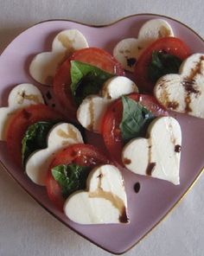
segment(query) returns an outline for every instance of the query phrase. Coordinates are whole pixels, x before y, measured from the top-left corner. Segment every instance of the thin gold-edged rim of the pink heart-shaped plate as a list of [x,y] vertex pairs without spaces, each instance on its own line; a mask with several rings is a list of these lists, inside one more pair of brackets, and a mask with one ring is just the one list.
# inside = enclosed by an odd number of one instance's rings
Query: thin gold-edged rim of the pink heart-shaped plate
[[[204,43],[204,38],[201,37],[201,35],[199,35],[196,31],[194,31],[194,29],[190,28],[188,25],[186,25],[185,23],[171,17],[171,16],[165,16],[165,15],[160,15],[160,14],[156,14],[156,13],[137,13],[137,14],[132,14],[130,16],[124,16],[121,18],[118,18],[117,20],[114,20],[112,22],[109,23],[105,23],[103,25],[92,25],[92,24],[87,24],[85,22],[78,22],[78,21],[74,21],[74,20],[70,20],[70,19],[48,19],[48,20],[43,20],[41,22],[36,22],[33,25],[30,25],[28,28],[23,29],[22,32],[20,32],[18,35],[16,35],[1,51],[0,51],[0,58],[3,55],[3,53],[6,51],[6,49],[10,46],[10,44],[12,42],[14,42],[16,40],[16,38],[20,35],[22,35],[22,33],[24,33],[25,31],[27,31],[28,29],[32,29],[33,27],[35,27],[38,24],[41,23],[46,23],[46,22],[73,22],[76,24],[80,24],[86,27],[90,27],[90,28],[105,28],[105,27],[110,27],[118,22],[121,22],[125,19],[131,18],[131,17],[137,17],[137,16],[155,16],[155,17],[159,17],[159,18],[167,18],[171,21],[174,22],[178,22],[180,23],[182,26],[184,26],[186,29],[189,29],[191,32],[194,33],[194,35],[196,35],[197,37],[199,37],[201,39],[201,41]],[[88,240],[89,242],[91,242],[92,244],[94,244],[95,246],[98,246],[100,248],[102,248],[103,250],[105,250],[108,253],[113,253],[115,255],[121,255],[123,253],[127,253],[129,252],[134,246],[137,246],[137,244],[139,242],[141,242],[144,238],[146,238],[148,236],[148,234],[150,234],[162,221],[164,221],[166,219],[166,217],[168,217],[168,215],[178,206],[178,204],[180,202],[182,202],[182,200],[184,199],[184,197],[188,194],[188,192],[194,187],[194,184],[199,180],[199,178],[201,177],[201,175],[204,173],[204,166],[201,168],[201,170],[199,170],[197,176],[195,176],[194,181],[190,183],[190,185],[188,186],[188,189],[186,189],[184,191],[184,193],[181,195],[181,197],[173,204],[173,206],[171,208],[169,208],[169,210],[163,215],[163,217],[161,219],[159,219],[158,221],[156,221],[155,225],[153,227],[151,227],[145,234],[143,234],[143,236],[137,240],[136,243],[134,243],[131,247],[128,247],[126,250],[124,250],[124,252],[121,253],[115,253],[112,252],[111,250],[106,249],[103,246],[100,246],[98,243],[92,241],[91,239],[89,239],[88,237],[86,237],[86,235],[84,234],[80,234],[79,231],[75,230],[73,227],[70,227],[66,221],[61,220],[60,217],[58,217],[56,214],[54,214],[51,210],[49,210],[46,206],[44,206],[37,198],[35,198],[34,195],[32,195],[31,193],[29,193],[28,189],[25,189],[21,182],[19,182],[15,176],[12,175],[12,173],[10,172],[10,170],[5,166],[5,164],[2,162],[2,160],[0,159],[0,167],[5,170],[5,172],[11,177],[11,179],[13,181],[16,182],[16,184],[25,192],[27,193],[31,199],[33,199],[35,202],[37,202],[41,208],[43,208],[44,210],[46,210],[46,212],[48,214],[51,214],[55,219],[57,219],[58,221],[61,221],[61,223],[63,223],[66,227],[70,228],[71,230],[73,230],[74,233],[79,234],[81,237],[83,237],[84,239]]]

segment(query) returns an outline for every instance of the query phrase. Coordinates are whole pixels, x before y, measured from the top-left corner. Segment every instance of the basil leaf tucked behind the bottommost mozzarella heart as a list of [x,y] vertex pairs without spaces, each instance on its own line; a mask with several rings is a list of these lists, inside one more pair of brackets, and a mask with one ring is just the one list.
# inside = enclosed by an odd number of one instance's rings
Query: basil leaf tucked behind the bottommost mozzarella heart
[[54,180],[61,186],[63,197],[67,198],[74,191],[86,189],[86,178],[90,168],[77,164],[61,164],[51,171]]

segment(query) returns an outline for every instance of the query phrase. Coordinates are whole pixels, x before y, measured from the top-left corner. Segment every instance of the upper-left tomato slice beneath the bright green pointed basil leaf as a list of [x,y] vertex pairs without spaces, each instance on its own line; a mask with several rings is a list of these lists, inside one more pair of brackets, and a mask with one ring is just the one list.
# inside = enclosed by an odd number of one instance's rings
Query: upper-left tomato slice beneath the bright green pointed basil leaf
[[75,119],[77,107],[70,88],[70,61],[81,61],[117,75],[124,75],[124,69],[111,54],[100,48],[80,49],[61,65],[54,77],[54,95],[67,110],[68,117]]

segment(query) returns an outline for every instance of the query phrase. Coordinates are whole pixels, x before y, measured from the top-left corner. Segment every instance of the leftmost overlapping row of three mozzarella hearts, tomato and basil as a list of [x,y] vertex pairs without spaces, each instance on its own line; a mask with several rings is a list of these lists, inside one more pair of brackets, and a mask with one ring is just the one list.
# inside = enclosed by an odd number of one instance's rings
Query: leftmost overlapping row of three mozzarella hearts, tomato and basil
[[109,157],[84,144],[76,125],[44,105],[35,86],[16,86],[10,99],[18,105],[0,109],[1,131],[10,157],[30,180],[45,186],[49,199],[72,221],[128,223],[124,179]]

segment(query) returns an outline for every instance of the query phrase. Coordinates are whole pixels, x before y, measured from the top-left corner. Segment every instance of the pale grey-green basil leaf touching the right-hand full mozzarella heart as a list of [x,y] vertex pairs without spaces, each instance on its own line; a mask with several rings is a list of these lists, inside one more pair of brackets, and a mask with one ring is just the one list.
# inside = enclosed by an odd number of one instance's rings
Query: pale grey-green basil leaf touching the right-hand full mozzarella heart
[[124,143],[130,141],[131,138],[144,137],[148,125],[155,116],[146,107],[127,96],[122,96],[122,102],[124,110],[119,128]]

